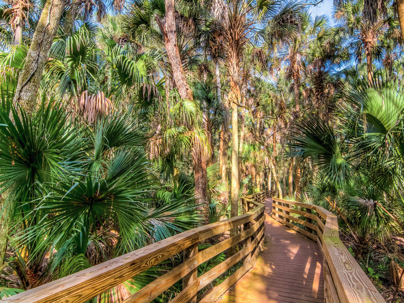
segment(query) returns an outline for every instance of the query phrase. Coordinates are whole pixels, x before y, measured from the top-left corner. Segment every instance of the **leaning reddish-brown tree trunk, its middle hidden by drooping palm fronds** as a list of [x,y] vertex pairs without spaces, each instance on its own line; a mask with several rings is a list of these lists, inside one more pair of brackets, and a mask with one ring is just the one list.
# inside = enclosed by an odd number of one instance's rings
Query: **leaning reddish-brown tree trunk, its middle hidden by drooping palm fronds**
[[[156,22],[164,36],[167,57],[170,62],[175,87],[182,99],[193,100],[192,90],[188,85],[185,72],[182,67],[180,52],[177,44],[177,32],[175,23],[175,2],[165,0],[166,15],[162,20],[158,15]],[[205,218],[205,223],[209,222],[209,200],[208,200],[208,174],[206,157],[203,151],[194,144],[192,147],[192,160],[195,180],[195,197],[201,202],[199,208]]]

